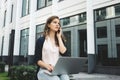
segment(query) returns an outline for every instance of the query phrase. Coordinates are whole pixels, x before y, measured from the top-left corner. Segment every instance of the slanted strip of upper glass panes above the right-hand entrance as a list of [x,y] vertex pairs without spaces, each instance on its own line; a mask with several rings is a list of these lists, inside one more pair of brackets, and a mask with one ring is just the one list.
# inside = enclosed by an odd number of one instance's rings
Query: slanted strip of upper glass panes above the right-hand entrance
[[120,16],[120,4],[95,10],[95,21],[102,21]]

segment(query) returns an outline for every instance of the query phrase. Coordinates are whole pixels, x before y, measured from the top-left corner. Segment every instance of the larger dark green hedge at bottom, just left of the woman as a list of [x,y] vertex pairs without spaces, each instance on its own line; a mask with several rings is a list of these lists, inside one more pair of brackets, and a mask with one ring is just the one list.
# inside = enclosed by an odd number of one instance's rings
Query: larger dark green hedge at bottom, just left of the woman
[[12,66],[10,80],[35,80],[36,66]]

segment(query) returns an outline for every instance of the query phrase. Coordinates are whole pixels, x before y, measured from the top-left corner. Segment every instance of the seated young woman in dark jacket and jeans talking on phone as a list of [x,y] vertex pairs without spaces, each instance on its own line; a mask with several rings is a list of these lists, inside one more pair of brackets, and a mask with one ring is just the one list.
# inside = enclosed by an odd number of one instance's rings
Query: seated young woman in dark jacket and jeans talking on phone
[[47,19],[43,37],[36,42],[35,61],[38,65],[38,80],[69,80],[67,74],[51,76],[46,71],[51,72],[60,56],[66,52],[58,16],[51,16]]

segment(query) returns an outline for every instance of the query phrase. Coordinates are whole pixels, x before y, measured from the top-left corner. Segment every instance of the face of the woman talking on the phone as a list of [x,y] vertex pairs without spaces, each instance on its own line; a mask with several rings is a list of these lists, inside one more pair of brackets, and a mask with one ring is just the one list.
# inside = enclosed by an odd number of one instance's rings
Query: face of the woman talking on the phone
[[59,19],[53,19],[53,21],[50,24],[48,24],[48,27],[50,28],[50,31],[57,32],[60,28]]

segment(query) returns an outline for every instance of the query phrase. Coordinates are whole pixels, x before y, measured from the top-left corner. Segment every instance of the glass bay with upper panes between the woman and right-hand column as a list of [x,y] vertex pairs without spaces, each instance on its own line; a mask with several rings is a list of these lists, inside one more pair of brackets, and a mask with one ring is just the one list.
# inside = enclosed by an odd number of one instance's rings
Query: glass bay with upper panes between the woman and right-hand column
[[[60,21],[63,30],[65,30],[64,35],[67,39],[66,46],[70,53],[69,56],[87,57],[86,12],[62,18]],[[77,31],[78,33],[75,34]]]

